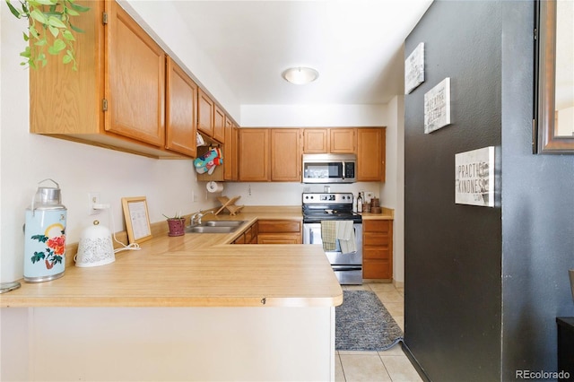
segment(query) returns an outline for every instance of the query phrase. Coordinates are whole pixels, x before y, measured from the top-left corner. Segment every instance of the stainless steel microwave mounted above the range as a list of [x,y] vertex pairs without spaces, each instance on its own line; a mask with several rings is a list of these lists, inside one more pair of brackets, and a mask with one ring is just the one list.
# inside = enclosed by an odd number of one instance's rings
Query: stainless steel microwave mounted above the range
[[303,183],[354,183],[355,154],[303,154]]

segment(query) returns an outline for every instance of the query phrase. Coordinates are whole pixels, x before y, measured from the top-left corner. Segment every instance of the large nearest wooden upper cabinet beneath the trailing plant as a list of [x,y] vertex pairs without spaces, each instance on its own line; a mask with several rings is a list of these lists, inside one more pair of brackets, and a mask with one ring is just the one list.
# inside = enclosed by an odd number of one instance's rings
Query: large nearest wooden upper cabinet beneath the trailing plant
[[29,71],[30,133],[181,158],[165,149],[165,53],[115,1],[78,4],[91,8],[74,22],[84,30],[75,34],[78,71]]

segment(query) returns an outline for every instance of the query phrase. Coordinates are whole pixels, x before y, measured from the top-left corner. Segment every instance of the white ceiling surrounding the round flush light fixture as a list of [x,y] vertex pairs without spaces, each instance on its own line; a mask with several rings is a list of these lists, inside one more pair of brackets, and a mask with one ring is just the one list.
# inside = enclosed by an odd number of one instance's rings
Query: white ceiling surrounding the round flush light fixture
[[[403,43],[432,0],[175,1],[240,104],[373,104],[404,93]],[[290,66],[316,82],[293,85]]]

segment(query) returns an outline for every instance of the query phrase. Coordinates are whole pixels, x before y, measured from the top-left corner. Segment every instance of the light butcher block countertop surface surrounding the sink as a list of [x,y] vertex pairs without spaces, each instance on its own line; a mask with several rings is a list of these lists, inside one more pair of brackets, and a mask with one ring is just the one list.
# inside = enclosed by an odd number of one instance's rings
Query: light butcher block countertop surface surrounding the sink
[[[271,211],[271,212],[270,212]],[[0,294],[0,307],[335,307],[343,291],[320,246],[231,245],[257,220],[302,220],[300,207],[244,208],[230,234],[161,233],[109,265],[66,265],[64,277]],[[157,223],[152,224],[157,227]],[[71,256],[67,255],[66,257]],[[69,259],[68,259],[69,261]]]

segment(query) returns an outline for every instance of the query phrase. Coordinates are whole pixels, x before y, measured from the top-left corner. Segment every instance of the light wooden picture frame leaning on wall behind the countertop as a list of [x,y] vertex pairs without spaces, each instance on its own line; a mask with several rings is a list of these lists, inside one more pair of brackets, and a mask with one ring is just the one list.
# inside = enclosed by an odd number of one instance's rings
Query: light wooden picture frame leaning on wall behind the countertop
[[152,239],[150,215],[147,212],[145,196],[122,197],[122,207],[129,243],[141,243]]

